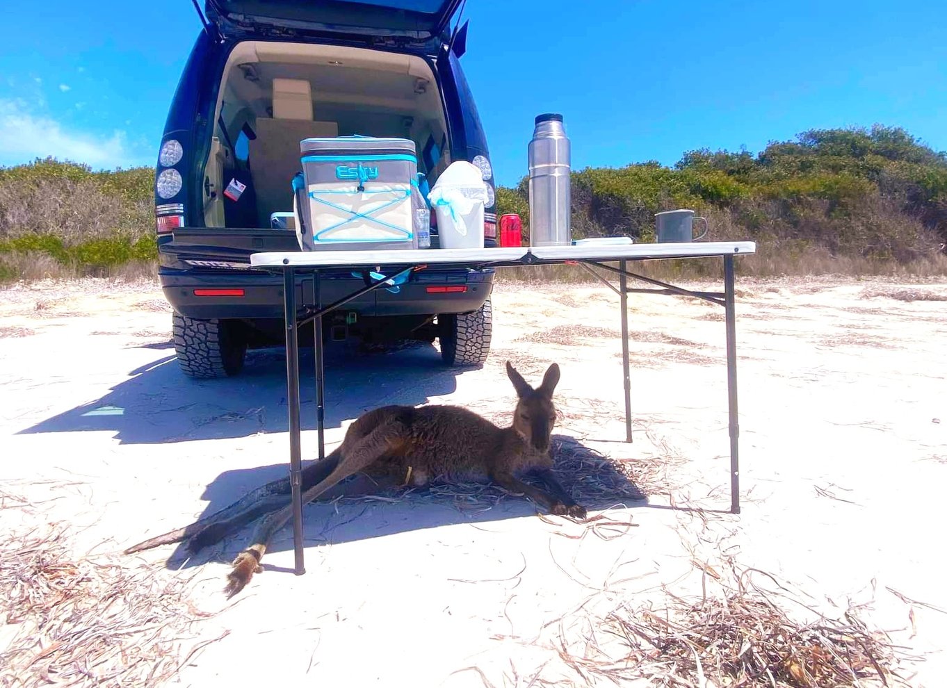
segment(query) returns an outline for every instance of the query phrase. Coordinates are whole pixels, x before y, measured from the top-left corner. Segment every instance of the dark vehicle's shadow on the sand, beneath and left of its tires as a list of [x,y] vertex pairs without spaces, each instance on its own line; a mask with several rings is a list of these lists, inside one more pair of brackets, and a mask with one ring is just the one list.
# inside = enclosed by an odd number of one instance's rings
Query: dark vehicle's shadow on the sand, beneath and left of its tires
[[[384,404],[418,405],[456,390],[462,370],[449,368],[432,344],[363,353],[326,347],[326,427]],[[300,349],[301,421],[315,427],[314,356]],[[121,444],[164,444],[287,431],[283,348],[247,353],[239,376],[190,379],[174,356],[129,373],[103,397],[54,415],[18,434],[112,431]]]

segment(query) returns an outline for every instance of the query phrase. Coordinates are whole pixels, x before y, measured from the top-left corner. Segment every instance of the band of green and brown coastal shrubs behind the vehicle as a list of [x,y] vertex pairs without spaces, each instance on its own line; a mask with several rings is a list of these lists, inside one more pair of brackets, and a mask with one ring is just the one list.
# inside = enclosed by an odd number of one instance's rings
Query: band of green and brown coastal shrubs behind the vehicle
[[[0,167],[0,280],[153,261],[153,183],[153,168],[97,172],[53,158]],[[684,207],[710,219],[712,238],[757,240],[769,255],[746,262],[754,273],[912,261],[934,270],[947,242],[947,154],[876,125],[802,132],[758,155],[701,149],[672,168],[648,161],[572,173],[575,238],[649,241],[654,213]],[[496,212],[518,214],[528,236],[527,177],[496,189]]]

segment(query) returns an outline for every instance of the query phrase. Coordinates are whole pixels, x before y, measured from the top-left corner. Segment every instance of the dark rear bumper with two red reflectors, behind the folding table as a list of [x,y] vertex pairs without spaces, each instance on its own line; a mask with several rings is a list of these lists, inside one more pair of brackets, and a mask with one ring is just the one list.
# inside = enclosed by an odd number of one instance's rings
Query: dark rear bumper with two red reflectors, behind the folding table
[[[161,268],[158,272],[168,302],[189,318],[278,318],[283,317],[283,280],[276,274],[232,271],[194,271]],[[359,315],[398,316],[465,313],[479,309],[490,295],[491,270],[423,271],[411,274],[398,293],[384,288],[370,291],[349,301],[345,310]],[[327,274],[320,279],[320,301],[331,304],[358,291],[365,282],[343,274]],[[466,288],[465,291],[440,291],[438,287]],[[428,291],[434,288],[437,291]],[[199,295],[204,290],[229,293]],[[313,293],[312,275],[296,278],[296,299]]]

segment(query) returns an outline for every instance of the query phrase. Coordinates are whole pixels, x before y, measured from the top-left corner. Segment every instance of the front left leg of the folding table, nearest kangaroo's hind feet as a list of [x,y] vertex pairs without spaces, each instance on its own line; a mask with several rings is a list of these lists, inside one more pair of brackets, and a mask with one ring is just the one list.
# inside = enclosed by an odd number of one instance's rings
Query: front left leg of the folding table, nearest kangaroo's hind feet
[[306,573],[302,534],[302,452],[299,436],[299,338],[296,331],[295,269],[283,271],[283,309],[286,323],[286,405],[289,407],[290,487],[293,499],[295,574]]

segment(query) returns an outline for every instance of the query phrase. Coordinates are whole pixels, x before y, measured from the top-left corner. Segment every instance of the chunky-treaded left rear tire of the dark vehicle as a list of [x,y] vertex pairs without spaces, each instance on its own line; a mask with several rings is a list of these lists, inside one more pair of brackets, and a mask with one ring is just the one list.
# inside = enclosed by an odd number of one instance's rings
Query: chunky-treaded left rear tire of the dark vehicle
[[225,320],[173,316],[174,351],[188,378],[224,378],[243,368],[246,342]]

